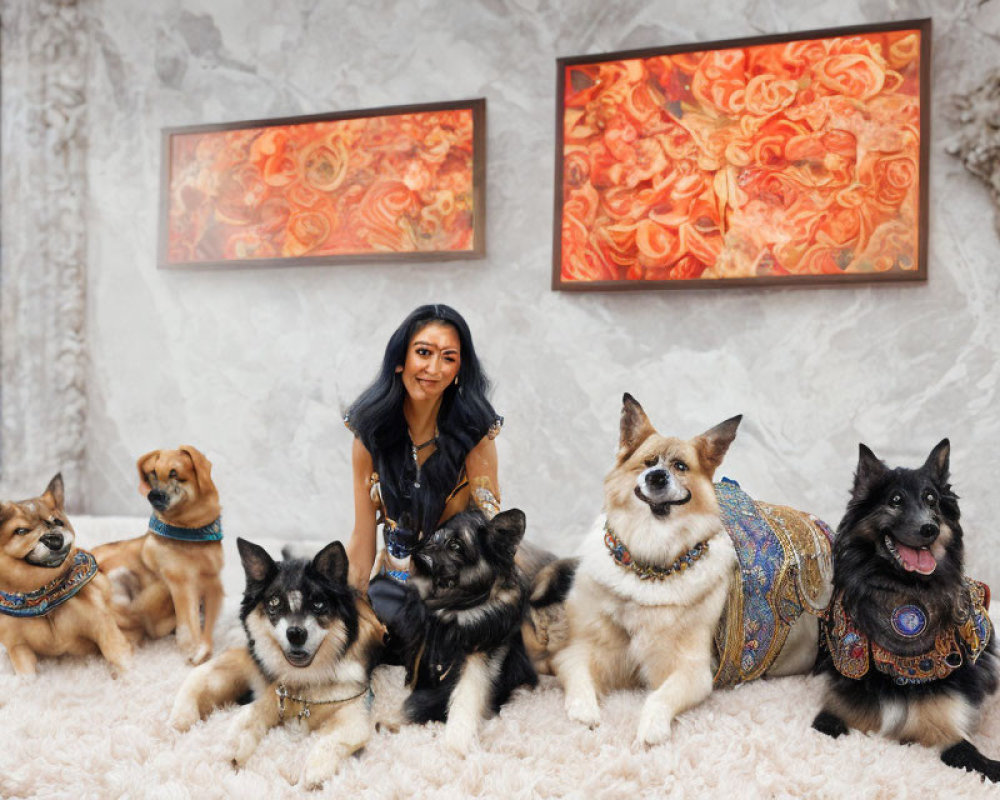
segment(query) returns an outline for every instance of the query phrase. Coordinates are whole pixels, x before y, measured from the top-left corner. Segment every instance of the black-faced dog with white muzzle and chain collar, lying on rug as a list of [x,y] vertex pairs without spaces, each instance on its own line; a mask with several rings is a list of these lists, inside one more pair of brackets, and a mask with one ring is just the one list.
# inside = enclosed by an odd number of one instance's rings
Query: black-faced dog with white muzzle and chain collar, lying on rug
[[303,783],[317,788],[371,736],[371,673],[385,628],[348,585],[340,542],[312,559],[283,553],[281,561],[252,542],[236,544],[247,581],[240,606],[247,646],[194,669],[170,723],[187,730],[220,705],[252,698],[233,722],[233,765],[246,764],[268,730],[298,720],[313,732]]

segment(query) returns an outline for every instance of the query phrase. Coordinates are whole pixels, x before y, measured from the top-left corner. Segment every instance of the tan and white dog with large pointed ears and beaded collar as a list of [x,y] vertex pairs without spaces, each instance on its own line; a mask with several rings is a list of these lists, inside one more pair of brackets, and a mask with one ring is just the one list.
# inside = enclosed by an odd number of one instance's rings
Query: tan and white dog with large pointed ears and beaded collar
[[[561,600],[557,595],[568,586],[565,619],[553,624],[559,615],[550,605],[541,638],[572,719],[593,727],[600,722],[602,693],[645,687],[651,691],[636,740],[655,745],[670,735],[675,716],[711,693],[713,637],[739,582],[712,476],[740,419],[693,439],[668,438],[631,395],[624,396],[618,455],[604,481],[604,513],[579,559],[549,565],[532,596],[537,608],[546,604],[544,595]],[[816,619],[802,615],[768,674],[808,671],[816,643]]]

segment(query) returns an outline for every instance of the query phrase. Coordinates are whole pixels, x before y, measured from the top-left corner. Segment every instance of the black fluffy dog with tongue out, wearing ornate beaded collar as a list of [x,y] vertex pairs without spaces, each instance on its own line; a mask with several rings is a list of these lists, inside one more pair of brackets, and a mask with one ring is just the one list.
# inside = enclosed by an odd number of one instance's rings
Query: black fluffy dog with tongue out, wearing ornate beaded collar
[[988,589],[963,574],[949,452],[945,439],[919,469],[890,469],[861,445],[834,542],[828,685],[813,727],[919,742],[998,781],[1000,762],[969,742],[997,659]]

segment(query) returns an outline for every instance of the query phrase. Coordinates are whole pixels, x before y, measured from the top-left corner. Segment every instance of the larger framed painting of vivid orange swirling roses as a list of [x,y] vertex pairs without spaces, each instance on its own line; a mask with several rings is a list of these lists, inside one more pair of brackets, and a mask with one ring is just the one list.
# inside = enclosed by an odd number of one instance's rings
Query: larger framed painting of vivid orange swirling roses
[[931,21],[557,63],[553,288],[924,280]]

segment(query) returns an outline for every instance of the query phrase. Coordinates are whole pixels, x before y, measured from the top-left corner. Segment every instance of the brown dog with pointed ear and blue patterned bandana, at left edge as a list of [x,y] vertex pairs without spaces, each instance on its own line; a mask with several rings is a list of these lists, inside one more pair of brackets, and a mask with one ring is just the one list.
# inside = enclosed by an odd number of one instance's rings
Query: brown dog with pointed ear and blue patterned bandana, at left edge
[[0,644],[18,675],[34,675],[38,656],[100,650],[120,669],[132,663],[111,583],[76,546],[61,475],[41,497],[0,503]]

